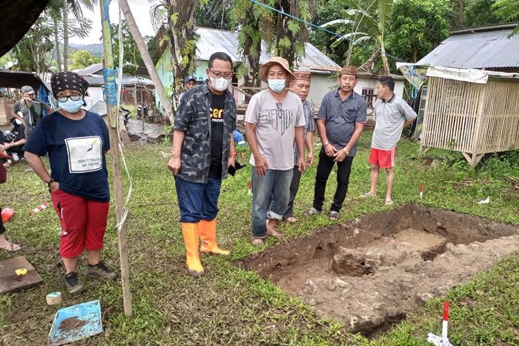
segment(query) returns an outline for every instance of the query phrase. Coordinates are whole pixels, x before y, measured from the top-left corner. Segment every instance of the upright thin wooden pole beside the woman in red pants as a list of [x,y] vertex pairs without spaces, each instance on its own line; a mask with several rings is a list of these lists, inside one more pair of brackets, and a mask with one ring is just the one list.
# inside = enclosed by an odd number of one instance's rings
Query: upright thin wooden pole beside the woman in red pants
[[[102,41],[104,46],[104,68],[113,69],[113,55],[111,48],[110,23],[108,20],[108,11],[110,1],[101,0],[101,24],[102,24]],[[122,196],[122,179],[120,167],[120,145],[117,133],[117,109],[107,102],[107,118],[110,134],[111,162],[113,174],[113,188],[116,192],[116,216],[117,224],[121,224],[124,212],[124,197]],[[118,227],[119,238],[119,260],[122,281],[122,303],[124,305],[125,315],[131,316],[131,292],[129,289],[129,262],[128,262],[128,242],[126,233],[126,223],[122,223]]]

